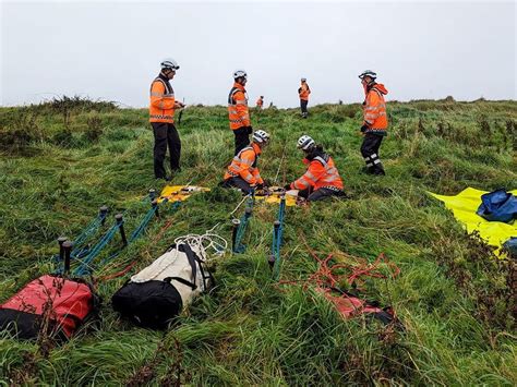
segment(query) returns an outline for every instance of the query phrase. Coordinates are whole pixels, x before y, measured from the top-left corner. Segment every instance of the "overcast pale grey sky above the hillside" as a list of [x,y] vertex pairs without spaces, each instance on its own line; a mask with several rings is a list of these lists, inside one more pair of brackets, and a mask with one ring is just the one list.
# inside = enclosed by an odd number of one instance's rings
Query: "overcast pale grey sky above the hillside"
[[516,99],[516,4],[496,2],[134,2],[1,0],[0,105],[81,95],[148,104],[164,57],[185,104],[226,105],[248,71],[251,102],[359,101],[377,72],[388,99]]

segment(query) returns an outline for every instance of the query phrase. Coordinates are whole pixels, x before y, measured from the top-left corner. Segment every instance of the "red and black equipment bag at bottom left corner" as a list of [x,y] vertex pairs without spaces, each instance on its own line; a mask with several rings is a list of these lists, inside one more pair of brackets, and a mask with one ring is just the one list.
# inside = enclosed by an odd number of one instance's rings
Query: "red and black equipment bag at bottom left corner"
[[45,334],[65,340],[97,314],[98,305],[98,297],[83,280],[41,276],[0,305],[0,330],[21,339]]

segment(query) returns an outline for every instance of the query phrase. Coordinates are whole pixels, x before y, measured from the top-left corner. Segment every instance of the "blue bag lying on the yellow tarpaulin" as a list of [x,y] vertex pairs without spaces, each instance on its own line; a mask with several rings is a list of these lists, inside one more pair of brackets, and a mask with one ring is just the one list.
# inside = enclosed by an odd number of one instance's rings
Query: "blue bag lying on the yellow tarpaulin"
[[490,221],[510,222],[517,218],[517,197],[505,190],[481,195],[481,205],[476,214]]

